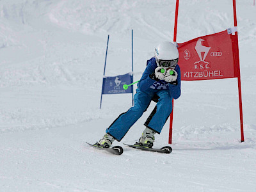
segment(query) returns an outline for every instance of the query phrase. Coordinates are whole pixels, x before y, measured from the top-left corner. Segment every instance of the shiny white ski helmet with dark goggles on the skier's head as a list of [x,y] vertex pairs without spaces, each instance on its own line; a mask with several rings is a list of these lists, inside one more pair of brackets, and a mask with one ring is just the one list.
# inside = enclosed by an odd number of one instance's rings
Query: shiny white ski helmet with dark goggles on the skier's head
[[175,67],[179,60],[179,51],[171,42],[161,42],[155,49],[158,67]]

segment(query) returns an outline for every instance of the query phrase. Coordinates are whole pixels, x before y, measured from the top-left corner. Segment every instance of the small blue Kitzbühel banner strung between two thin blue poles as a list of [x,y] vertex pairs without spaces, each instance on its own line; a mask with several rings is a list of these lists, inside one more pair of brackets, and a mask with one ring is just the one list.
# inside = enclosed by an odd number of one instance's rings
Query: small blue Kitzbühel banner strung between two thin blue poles
[[120,94],[132,93],[133,86],[129,86],[127,90],[123,89],[124,84],[132,83],[132,74],[124,74],[122,76],[104,77],[102,94]]

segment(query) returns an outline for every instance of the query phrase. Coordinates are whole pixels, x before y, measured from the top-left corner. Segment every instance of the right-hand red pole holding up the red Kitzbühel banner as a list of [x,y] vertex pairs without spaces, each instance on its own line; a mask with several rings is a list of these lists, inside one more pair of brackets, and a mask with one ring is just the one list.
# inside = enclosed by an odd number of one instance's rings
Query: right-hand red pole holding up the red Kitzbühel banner
[[[233,10],[234,10],[234,26],[237,27],[237,19],[236,19],[236,0],[233,0]],[[242,108],[242,91],[241,91],[241,76],[240,76],[240,63],[239,63],[239,47],[238,47],[238,35],[235,32],[236,38],[236,52],[237,54],[237,83],[238,83],[238,95],[239,95],[239,111],[240,111],[240,127],[241,127],[241,142],[244,142],[244,126],[243,126],[243,108]]]

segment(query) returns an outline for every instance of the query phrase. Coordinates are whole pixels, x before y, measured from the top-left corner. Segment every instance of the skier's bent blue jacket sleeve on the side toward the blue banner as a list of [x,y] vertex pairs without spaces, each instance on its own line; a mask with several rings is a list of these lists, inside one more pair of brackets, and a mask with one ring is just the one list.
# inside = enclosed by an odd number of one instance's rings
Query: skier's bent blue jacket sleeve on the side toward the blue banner
[[140,82],[138,83],[138,88],[140,88],[141,92],[145,92],[145,90],[150,88],[150,86],[153,83],[155,83],[155,80],[151,79],[149,75],[155,71],[156,66],[154,66],[150,60],[147,62],[148,62],[147,68],[143,72]]

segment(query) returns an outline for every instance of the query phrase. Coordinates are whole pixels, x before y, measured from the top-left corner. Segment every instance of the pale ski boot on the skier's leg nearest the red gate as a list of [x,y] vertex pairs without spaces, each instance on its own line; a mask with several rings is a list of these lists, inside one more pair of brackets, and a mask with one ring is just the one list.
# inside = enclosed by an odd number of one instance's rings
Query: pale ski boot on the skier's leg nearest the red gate
[[155,141],[154,134],[156,134],[156,132],[154,132],[152,129],[148,129],[148,127],[146,127],[146,129],[143,131],[143,133],[141,135],[139,142],[136,142],[134,145],[140,145],[141,147],[152,148],[153,143]]

